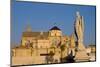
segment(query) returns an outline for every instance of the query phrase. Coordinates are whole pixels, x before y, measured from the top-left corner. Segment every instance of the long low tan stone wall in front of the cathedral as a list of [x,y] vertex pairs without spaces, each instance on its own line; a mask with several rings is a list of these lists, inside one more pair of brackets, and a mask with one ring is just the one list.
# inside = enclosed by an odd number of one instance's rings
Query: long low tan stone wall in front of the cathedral
[[[12,65],[28,65],[28,64],[46,64],[46,63],[60,63],[61,58],[61,50],[60,48],[17,48],[13,49],[14,55],[12,56]],[[49,54],[53,52],[53,61],[49,62],[46,57],[50,55],[42,55]],[[67,52],[63,52],[63,55],[67,55]],[[65,57],[65,56],[63,56]],[[49,58],[50,59],[50,58]]]

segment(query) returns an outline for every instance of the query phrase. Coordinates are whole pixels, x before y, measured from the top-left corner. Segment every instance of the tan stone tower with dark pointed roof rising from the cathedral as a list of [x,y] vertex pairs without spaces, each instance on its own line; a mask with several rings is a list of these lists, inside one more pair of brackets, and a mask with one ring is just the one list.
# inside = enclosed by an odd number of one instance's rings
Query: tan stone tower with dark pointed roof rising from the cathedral
[[51,41],[51,45],[58,46],[61,43],[62,31],[57,26],[52,27],[49,30],[49,39]]

